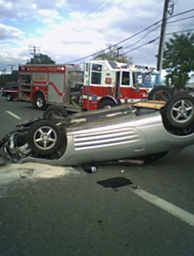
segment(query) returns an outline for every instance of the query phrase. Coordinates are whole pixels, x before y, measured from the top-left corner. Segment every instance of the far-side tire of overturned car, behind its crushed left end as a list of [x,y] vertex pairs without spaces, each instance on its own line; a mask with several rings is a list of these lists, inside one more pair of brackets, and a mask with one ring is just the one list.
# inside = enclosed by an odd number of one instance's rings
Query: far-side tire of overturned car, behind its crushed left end
[[68,111],[63,106],[49,106],[43,113],[44,119],[57,119],[61,117],[67,117]]

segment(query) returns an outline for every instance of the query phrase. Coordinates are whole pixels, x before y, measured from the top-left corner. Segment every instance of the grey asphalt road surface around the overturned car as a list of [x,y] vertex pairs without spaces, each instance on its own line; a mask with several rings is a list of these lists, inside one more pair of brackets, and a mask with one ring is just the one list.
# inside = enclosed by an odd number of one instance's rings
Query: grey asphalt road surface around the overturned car
[[[29,104],[0,98],[0,139],[37,116]],[[0,167],[0,255],[193,255],[193,150],[149,166],[108,163],[95,174]],[[131,185],[98,183],[118,177]]]

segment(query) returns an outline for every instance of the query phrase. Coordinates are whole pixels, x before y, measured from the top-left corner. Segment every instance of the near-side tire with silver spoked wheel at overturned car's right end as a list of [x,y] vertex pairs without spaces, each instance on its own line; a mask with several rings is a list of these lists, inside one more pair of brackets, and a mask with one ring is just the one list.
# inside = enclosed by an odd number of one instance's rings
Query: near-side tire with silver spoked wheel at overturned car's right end
[[188,94],[172,96],[164,109],[168,124],[176,128],[186,128],[194,124],[194,98]]

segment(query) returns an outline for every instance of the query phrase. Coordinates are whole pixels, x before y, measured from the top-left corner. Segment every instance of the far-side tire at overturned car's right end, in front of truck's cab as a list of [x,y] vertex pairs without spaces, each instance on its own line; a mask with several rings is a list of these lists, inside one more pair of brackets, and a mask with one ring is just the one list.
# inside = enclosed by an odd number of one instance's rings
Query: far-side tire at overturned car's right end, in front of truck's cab
[[148,94],[148,100],[168,101],[173,96],[173,91],[167,86],[157,86]]

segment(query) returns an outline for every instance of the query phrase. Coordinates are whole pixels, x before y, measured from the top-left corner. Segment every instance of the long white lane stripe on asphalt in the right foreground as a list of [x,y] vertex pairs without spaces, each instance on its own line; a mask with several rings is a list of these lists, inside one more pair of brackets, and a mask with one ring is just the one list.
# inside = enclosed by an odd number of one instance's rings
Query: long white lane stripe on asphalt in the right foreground
[[190,212],[185,211],[160,197],[154,196],[151,193],[142,190],[141,188],[132,189],[132,191],[134,191],[134,193],[136,193],[138,196],[144,198],[144,200],[149,201],[149,203],[160,207],[162,210],[167,211],[168,213],[176,216],[177,218],[194,227],[194,215],[190,214]]

